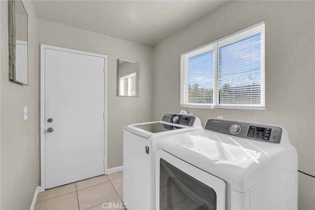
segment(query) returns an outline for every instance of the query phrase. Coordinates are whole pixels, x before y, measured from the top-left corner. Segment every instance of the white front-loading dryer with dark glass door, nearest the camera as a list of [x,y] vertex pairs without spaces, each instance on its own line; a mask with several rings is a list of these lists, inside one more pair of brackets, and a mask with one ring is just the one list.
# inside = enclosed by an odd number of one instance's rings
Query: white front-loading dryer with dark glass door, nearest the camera
[[159,210],[297,210],[297,152],[281,126],[208,119],[157,150]]

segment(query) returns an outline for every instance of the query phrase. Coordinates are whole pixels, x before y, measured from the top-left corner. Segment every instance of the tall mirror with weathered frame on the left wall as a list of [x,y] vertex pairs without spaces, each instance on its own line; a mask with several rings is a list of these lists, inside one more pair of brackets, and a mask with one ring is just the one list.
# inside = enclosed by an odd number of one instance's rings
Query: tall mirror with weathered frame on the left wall
[[28,14],[21,0],[8,0],[9,79],[28,85]]

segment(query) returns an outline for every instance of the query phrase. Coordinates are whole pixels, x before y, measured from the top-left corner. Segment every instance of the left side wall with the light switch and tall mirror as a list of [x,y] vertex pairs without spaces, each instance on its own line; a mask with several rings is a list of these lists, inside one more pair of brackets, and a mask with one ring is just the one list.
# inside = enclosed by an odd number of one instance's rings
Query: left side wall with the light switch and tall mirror
[[[29,18],[29,86],[8,78],[8,2],[1,0],[0,39],[0,209],[28,209],[40,185],[39,161],[39,50],[37,18],[31,1],[23,0]],[[29,119],[23,119],[28,107]]]

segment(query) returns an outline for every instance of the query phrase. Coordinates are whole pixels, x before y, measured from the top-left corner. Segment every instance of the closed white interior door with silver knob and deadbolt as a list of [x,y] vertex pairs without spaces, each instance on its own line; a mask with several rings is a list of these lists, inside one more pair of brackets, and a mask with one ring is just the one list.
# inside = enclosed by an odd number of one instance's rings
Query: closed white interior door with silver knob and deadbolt
[[106,56],[41,49],[47,189],[105,172]]

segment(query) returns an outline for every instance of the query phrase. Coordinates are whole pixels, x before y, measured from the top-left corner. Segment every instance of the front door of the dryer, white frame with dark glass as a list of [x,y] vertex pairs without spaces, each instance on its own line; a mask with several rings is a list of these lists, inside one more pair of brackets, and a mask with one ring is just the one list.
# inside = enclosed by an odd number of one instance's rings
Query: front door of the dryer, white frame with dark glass
[[[167,155],[169,156],[169,155]],[[172,155],[171,155],[172,156]],[[166,161],[166,160],[167,161]],[[174,156],[159,159],[159,209],[221,210],[225,183]],[[178,164],[177,164],[178,163]],[[218,180],[213,180],[218,179]]]

